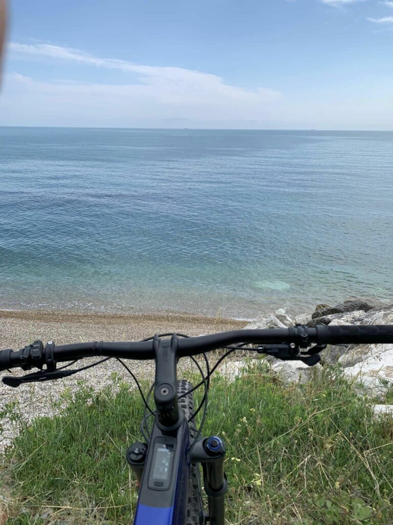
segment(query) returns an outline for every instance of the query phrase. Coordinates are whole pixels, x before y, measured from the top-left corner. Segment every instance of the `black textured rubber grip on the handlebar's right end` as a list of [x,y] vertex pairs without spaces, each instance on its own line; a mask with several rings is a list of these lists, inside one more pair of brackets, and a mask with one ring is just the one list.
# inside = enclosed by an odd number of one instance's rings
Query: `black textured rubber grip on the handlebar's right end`
[[393,325],[342,325],[316,327],[319,344],[393,343]]

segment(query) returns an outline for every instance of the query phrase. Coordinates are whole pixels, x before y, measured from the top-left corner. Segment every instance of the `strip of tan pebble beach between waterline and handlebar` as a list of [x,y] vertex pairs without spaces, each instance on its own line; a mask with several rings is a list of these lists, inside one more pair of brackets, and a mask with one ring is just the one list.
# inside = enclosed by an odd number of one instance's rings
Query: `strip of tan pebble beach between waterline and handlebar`
[[135,341],[155,333],[189,335],[243,328],[248,321],[184,312],[102,313],[64,310],[0,310],[4,348],[20,348],[30,341],[57,344],[80,341]]

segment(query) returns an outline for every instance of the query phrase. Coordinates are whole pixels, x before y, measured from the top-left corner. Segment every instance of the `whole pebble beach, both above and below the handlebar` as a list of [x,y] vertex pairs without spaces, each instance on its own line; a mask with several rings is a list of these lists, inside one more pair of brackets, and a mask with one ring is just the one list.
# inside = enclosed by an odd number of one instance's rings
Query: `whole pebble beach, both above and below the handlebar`
[[[149,314],[102,314],[57,311],[7,311],[0,310],[1,348],[19,349],[30,342],[41,339],[53,340],[57,344],[79,341],[138,341],[154,333],[176,331],[188,335],[201,335],[243,328],[246,322],[233,319],[209,318],[182,313]],[[97,359],[85,359],[88,364]],[[154,363],[146,361],[128,362],[138,378],[152,378]],[[181,363],[180,363],[181,366]],[[183,366],[188,366],[184,360]],[[34,370],[31,370],[34,372]],[[117,372],[124,380],[135,385],[132,377],[116,360],[110,360],[90,370],[75,374],[64,380],[47,383],[29,383],[11,388],[0,383],[0,411],[7,403],[18,401],[21,415],[30,421],[43,415],[53,415],[51,400],[57,401],[64,388],[76,390],[83,379],[95,390],[112,383],[111,375]],[[12,371],[23,375],[23,371]],[[9,375],[5,372],[4,375]],[[179,373],[180,376],[180,373]],[[3,426],[3,430],[1,427]],[[0,449],[10,443],[17,428],[8,418],[0,420]]]

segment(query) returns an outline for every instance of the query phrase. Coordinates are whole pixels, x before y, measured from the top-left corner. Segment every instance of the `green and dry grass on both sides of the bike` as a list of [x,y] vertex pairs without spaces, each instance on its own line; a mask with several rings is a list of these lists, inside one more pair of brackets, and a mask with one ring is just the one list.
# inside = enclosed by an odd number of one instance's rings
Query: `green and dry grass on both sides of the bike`
[[[62,401],[58,416],[24,426],[6,451],[5,523],[132,523],[125,451],[141,439],[137,391],[81,384]],[[226,440],[228,524],[393,522],[393,420],[373,419],[338,371],[301,387],[283,386],[260,363],[233,383],[217,375],[203,434]]]

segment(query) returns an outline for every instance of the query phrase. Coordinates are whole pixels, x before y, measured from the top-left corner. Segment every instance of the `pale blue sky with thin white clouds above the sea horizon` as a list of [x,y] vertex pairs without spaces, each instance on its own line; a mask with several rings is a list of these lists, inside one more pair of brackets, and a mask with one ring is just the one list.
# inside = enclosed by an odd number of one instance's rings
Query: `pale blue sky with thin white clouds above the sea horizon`
[[10,0],[0,125],[393,130],[393,1]]

